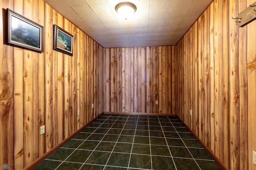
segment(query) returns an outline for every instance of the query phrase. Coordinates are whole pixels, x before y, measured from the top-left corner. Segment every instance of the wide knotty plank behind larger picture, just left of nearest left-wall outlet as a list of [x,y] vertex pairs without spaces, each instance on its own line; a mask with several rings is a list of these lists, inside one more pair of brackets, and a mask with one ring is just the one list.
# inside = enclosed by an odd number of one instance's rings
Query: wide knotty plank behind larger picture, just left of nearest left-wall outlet
[[[23,1],[23,16],[38,23],[38,0]],[[38,53],[23,50],[24,167],[38,158]]]

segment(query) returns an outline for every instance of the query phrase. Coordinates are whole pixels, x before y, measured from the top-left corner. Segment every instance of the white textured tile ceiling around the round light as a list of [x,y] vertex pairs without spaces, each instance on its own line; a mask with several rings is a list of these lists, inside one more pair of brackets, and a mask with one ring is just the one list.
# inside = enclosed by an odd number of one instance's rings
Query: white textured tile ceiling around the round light
[[212,0],[129,0],[127,20],[115,11],[128,0],[45,0],[102,47],[176,45]]

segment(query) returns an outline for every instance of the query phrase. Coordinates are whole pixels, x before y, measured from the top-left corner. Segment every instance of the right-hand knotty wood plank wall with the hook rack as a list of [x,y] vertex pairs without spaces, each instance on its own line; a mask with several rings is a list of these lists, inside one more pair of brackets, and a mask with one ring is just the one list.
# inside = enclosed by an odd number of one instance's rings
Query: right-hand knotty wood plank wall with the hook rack
[[256,170],[256,21],[232,19],[254,2],[214,0],[176,45],[177,116],[230,170]]

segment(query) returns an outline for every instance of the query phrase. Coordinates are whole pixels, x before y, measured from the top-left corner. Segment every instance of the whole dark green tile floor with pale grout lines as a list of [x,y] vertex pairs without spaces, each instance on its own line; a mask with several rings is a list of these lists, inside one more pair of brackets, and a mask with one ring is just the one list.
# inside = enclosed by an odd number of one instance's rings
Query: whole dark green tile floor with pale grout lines
[[175,117],[103,114],[35,170],[219,170]]

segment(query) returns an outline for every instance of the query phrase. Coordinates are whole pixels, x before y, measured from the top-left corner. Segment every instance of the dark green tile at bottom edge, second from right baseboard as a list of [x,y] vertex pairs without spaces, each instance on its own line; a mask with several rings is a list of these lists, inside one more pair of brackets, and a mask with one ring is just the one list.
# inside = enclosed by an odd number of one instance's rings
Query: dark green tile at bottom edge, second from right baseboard
[[173,158],[177,170],[200,170],[193,159]]

